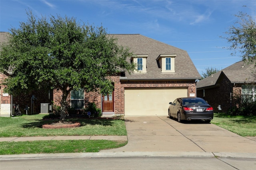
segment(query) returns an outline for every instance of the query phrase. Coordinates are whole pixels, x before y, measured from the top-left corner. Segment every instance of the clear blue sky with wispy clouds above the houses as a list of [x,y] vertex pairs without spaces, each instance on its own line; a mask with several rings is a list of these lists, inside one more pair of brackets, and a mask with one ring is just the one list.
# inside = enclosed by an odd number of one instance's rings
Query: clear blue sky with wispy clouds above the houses
[[[256,16],[255,0],[0,0],[0,31],[18,28],[26,10],[38,17],[68,16],[111,34],[141,34],[186,50],[202,74],[241,60],[231,56],[225,31],[238,12]],[[186,66],[186,61],[184,61]]]

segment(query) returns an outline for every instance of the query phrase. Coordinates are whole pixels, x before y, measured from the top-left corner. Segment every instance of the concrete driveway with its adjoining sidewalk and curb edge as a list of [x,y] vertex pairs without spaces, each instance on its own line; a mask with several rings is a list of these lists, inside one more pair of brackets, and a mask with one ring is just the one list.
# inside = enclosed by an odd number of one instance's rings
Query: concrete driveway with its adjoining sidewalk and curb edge
[[0,160],[127,156],[256,158],[256,137],[241,137],[211,123],[178,123],[166,116],[125,117],[126,136],[13,137],[0,141],[128,140],[124,147],[97,153],[0,155]]

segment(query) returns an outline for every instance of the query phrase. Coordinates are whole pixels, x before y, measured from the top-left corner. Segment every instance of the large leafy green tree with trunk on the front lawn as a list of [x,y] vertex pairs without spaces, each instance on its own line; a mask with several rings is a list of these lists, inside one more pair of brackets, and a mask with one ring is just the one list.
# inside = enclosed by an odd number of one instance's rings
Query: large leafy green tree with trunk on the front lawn
[[11,71],[6,92],[52,88],[61,90],[61,120],[71,90],[112,92],[110,75],[134,70],[126,59],[133,54],[119,46],[106,29],[77,22],[75,18],[38,18],[11,28],[8,43],[1,45],[0,71]]

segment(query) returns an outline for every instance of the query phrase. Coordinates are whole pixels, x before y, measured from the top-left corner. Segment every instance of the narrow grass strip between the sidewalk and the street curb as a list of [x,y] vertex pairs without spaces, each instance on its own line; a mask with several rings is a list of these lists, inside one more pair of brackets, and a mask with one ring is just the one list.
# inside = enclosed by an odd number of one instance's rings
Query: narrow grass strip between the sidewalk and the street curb
[[25,141],[0,142],[0,155],[38,153],[99,152],[127,144],[127,141],[67,140],[67,141]]

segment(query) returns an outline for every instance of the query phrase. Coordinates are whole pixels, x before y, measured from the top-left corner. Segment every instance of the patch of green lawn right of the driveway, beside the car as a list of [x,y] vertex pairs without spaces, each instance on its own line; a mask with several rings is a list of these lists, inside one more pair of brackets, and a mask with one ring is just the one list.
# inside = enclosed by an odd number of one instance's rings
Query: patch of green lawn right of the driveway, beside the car
[[214,113],[211,123],[243,137],[256,136],[256,116],[231,116]]

